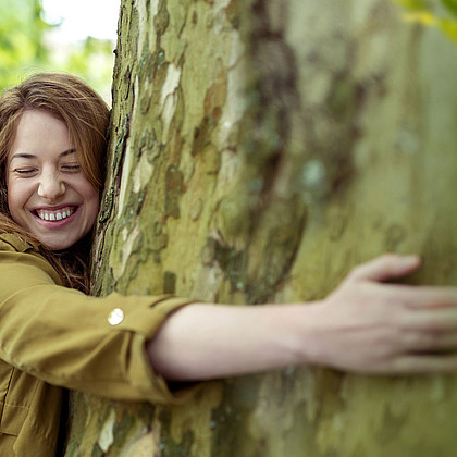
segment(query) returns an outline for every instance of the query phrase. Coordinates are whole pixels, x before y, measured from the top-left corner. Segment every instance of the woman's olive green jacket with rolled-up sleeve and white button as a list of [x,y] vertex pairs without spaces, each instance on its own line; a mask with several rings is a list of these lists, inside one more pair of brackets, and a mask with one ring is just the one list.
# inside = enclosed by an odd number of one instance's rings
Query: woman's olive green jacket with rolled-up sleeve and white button
[[177,402],[152,372],[145,342],[186,302],[89,297],[63,287],[38,246],[0,235],[0,456],[55,455],[61,387]]

